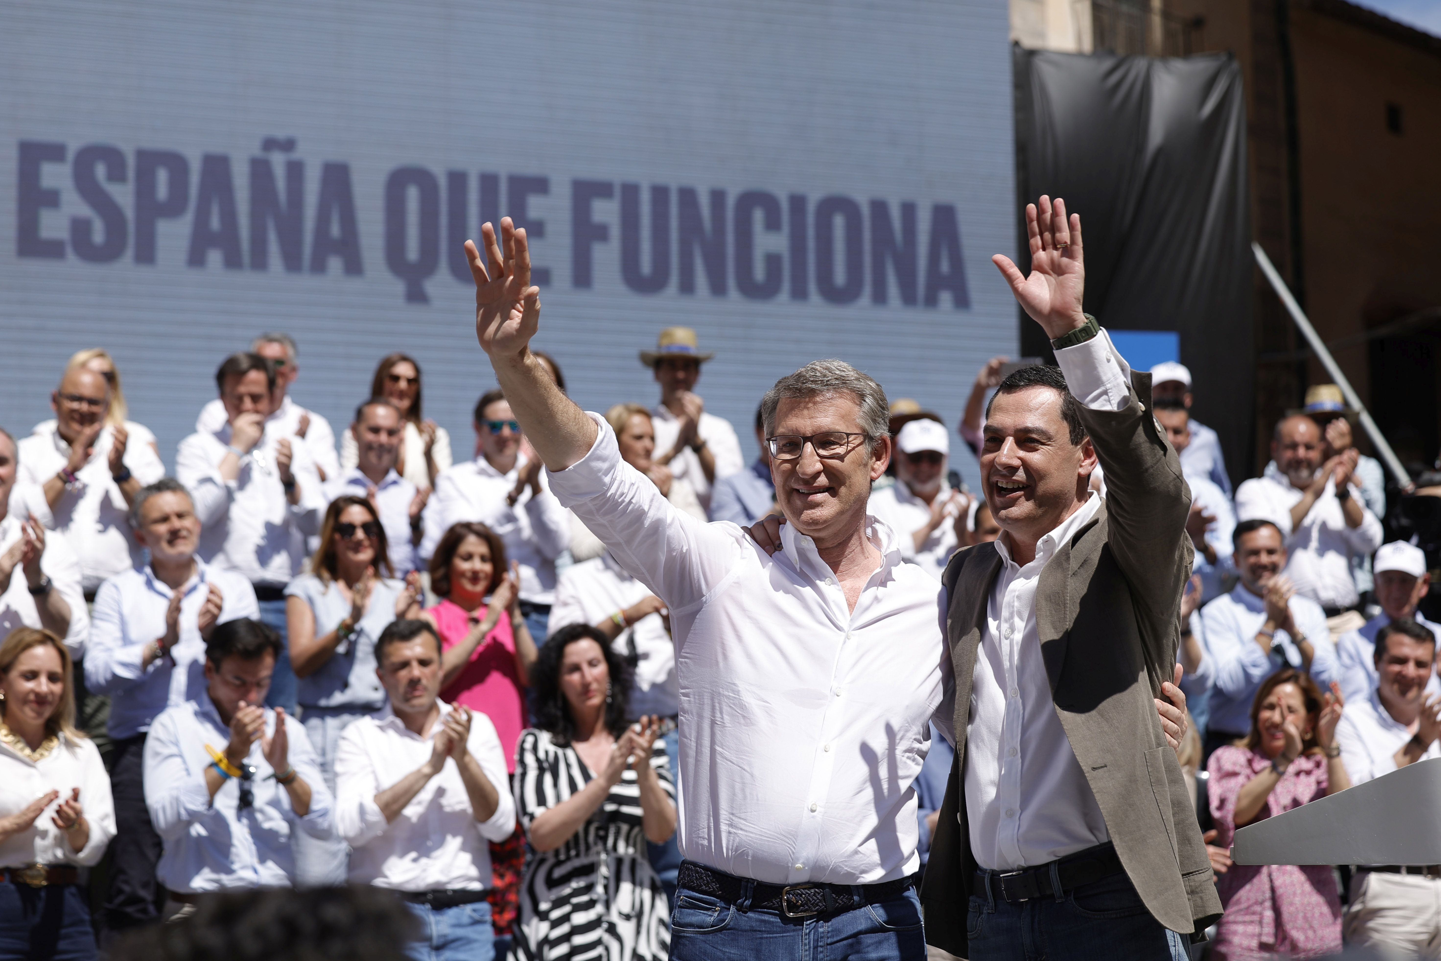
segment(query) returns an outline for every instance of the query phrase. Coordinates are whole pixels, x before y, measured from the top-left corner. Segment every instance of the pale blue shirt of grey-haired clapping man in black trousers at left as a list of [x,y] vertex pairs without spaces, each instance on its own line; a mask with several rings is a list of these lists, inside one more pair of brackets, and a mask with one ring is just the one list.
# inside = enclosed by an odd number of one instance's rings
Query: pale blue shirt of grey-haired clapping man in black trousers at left
[[216,624],[259,617],[249,581],[200,559],[195,563],[195,575],[180,586],[180,640],[147,667],[141,667],[146,645],[166,635],[174,592],[146,565],[111,578],[95,595],[85,684],[110,697],[110,736],[117,741],[150,730],[164,709],[205,696],[199,617],[212,584],[223,599]]

